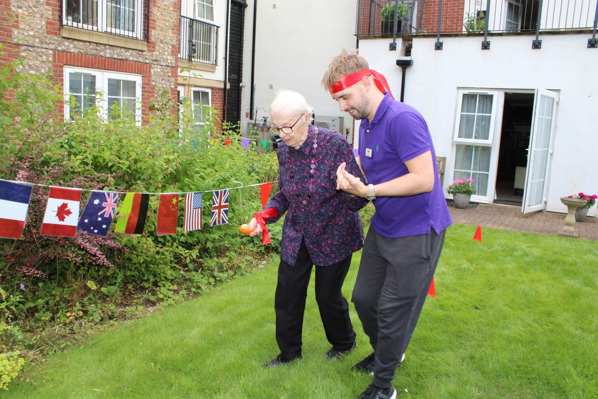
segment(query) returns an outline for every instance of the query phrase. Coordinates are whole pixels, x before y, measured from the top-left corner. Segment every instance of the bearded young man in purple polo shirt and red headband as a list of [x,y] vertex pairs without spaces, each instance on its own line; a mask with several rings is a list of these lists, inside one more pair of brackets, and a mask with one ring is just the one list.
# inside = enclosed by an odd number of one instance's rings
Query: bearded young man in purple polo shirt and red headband
[[386,79],[359,55],[335,57],[322,85],[341,111],[362,120],[357,162],[368,185],[340,165],[337,190],[371,199],[376,212],[352,301],[374,352],[353,370],[374,374],[360,398],[392,399],[390,384],[422,311],[452,223],[426,121],[393,99]]

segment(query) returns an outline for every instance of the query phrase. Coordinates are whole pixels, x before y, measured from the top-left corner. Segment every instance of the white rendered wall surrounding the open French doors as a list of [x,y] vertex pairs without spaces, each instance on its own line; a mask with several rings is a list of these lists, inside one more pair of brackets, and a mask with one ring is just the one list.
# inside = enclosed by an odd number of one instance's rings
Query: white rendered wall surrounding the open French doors
[[[598,150],[598,51],[587,48],[588,37],[541,35],[541,50],[532,50],[533,37],[528,35],[489,36],[490,50],[481,50],[483,36],[441,37],[441,51],[434,50],[435,38],[414,38],[405,102],[426,118],[437,155],[446,156],[451,166],[457,88],[558,91],[547,210],[566,212],[560,197],[579,191],[598,194],[593,166]],[[394,88],[400,82],[401,68],[396,66],[396,51],[388,50],[388,39],[361,39],[359,54],[370,68],[386,76],[398,98],[399,90]],[[500,130],[495,133],[497,139]],[[451,179],[445,176],[444,187]],[[596,215],[596,206],[588,215]]]

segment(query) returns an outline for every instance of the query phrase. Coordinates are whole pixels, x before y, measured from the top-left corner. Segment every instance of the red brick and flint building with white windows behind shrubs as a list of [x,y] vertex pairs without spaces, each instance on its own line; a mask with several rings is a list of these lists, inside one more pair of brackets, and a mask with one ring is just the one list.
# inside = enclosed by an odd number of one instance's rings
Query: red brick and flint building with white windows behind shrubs
[[[142,123],[164,90],[173,100],[193,100],[198,114],[213,106],[222,118],[225,66],[235,61],[225,57],[228,35],[221,32],[229,8],[213,0],[0,0],[0,41],[11,49],[2,60],[23,57],[32,73],[51,65],[65,99],[77,102],[75,109],[61,106],[66,119],[101,91],[107,114],[117,103]],[[242,57],[242,36],[231,38]]]

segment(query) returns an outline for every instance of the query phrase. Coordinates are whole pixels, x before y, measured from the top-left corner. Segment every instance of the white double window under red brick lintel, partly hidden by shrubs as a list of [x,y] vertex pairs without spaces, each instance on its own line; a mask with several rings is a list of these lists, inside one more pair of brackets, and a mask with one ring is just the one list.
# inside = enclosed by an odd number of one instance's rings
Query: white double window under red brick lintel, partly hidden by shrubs
[[[99,95],[96,95],[96,92]],[[71,96],[74,105],[71,108]],[[95,102],[109,118],[141,121],[141,76],[87,68],[65,67],[65,118],[85,114]]]

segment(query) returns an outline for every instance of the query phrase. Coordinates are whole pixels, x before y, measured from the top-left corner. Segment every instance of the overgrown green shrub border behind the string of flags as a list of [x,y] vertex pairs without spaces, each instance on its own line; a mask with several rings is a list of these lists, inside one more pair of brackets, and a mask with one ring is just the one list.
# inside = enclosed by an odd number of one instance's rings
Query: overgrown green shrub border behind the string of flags
[[[0,65],[0,178],[155,193],[276,179],[276,154],[257,150],[254,142],[248,150],[240,140],[227,146],[224,136],[210,135],[216,132],[213,110],[197,129],[188,100],[179,112],[170,95],[160,93],[142,126],[126,115],[106,119],[94,106],[62,122],[62,105],[56,106],[62,88],[53,83],[51,69],[28,74],[19,72],[20,63]],[[239,136],[235,127],[224,129],[222,134]],[[216,227],[208,226],[212,199],[204,193],[203,229],[184,233],[178,227],[172,236],[155,234],[158,196],[150,197],[142,235],[40,236],[47,194],[46,187],[33,189],[22,240],[0,239],[5,346],[35,347],[48,322],[65,323],[68,333],[83,337],[87,327],[144,309],[148,300],[173,303],[230,279],[280,248],[282,221],[271,226],[269,246],[238,231],[261,209],[259,187],[231,190],[229,224]],[[84,191],[82,208],[88,196]],[[181,207],[179,226],[182,215]]]

